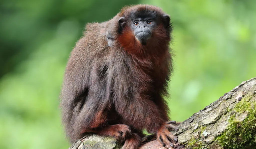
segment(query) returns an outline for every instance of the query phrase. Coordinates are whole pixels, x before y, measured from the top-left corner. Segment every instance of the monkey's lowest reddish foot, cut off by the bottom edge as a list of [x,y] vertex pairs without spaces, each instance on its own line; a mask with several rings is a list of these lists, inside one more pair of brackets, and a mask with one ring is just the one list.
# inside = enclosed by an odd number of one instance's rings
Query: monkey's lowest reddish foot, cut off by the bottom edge
[[142,138],[137,133],[133,133],[125,140],[121,149],[137,149],[140,146],[141,140]]

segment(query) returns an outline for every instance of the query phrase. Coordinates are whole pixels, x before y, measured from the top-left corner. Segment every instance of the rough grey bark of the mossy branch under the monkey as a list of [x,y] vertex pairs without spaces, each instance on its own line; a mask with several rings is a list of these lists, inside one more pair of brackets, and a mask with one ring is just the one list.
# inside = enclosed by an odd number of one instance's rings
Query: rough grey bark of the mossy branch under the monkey
[[[178,125],[175,148],[254,148],[256,146],[256,77],[242,82],[217,101]],[[112,137],[88,134],[70,149],[119,149]],[[154,135],[143,138],[140,149],[164,148]]]

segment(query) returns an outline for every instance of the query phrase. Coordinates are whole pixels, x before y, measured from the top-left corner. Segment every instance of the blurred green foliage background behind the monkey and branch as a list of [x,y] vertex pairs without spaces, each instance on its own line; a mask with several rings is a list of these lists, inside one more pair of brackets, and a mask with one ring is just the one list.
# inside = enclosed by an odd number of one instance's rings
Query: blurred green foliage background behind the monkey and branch
[[256,77],[256,1],[1,0],[0,148],[68,148],[58,108],[63,73],[87,22],[127,4],[171,16],[175,71],[168,104],[183,121]]

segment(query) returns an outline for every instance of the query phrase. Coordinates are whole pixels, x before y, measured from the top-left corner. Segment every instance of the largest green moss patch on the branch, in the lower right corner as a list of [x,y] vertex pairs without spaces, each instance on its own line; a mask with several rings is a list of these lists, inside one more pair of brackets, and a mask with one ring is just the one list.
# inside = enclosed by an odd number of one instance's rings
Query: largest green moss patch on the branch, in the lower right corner
[[242,98],[234,107],[237,113],[247,112],[248,115],[242,122],[236,120],[236,113],[230,117],[227,129],[216,139],[222,147],[240,149],[256,146],[256,103],[250,102],[251,98]]

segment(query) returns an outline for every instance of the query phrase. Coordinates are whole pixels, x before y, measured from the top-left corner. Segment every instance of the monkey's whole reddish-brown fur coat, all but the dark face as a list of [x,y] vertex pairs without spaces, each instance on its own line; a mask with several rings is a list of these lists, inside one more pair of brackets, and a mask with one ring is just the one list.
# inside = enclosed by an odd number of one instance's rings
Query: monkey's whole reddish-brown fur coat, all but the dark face
[[[73,142],[87,132],[125,140],[123,148],[137,148],[143,129],[162,137],[168,147],[168,107],[163,96],[172,72],[169,42],[171,27],[159,24],[146,45],[129,26],[118,33],[118,19],[131,12],[158,7],[136,5],[103,23],[86,26],[84,36],[71,52],[61,91],[62,120]],[[112,34],[113,47],[106,34]],[[161,141],[161,139],[160,139]]]

